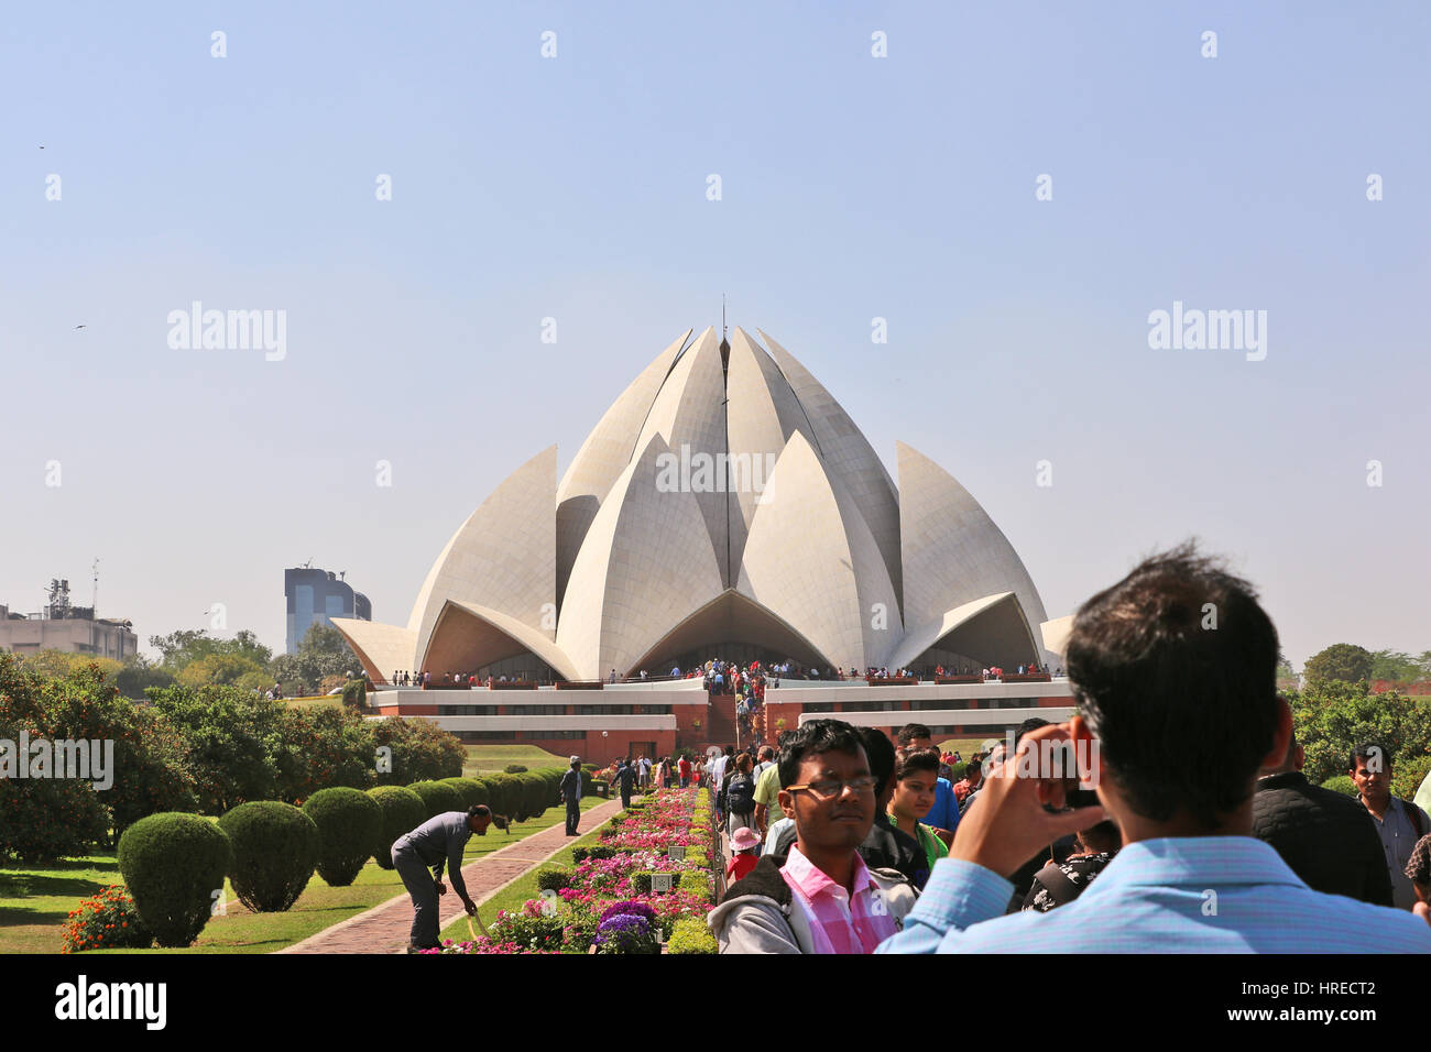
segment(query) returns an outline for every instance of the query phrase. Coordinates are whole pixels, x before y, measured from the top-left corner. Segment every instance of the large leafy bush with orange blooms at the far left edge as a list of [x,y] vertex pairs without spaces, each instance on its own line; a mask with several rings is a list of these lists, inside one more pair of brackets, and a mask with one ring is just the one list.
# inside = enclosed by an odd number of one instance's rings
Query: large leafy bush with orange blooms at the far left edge
[[[189,747],[179,729],[162,713],[120,697],[104,681],[97,664],[77,666],[54,678],[39,676],[29,666],[17,664],[9,654],[0,654],[0,726],[16,731],[0,736],[14,741],[19,741],[17,731],[26,729],[31,739],[43,737],[49,741],[72,739],[114,743],[109,771],[113,784],[103,792],[99,804],[84,804],[82,794],[73,790],[62,790],[59,797],[44,790],[39,797],[29,789],[21,790],[21,796],[30,797],[26,807],[36,806],[37,799],[52,797],[56,803],[64,799],[80,807],[82,812],[72,819],[74,830],[83,836],[90,834],[90,812],[102,804],[97,812],[100,836],[96,843],[104,840],[110,822],[117,834],[146,814],[192,810],[196,806]],[[17,800],[16,807],[19,806]],[[103,817],[106,807],[109,817]],[[6,824],[6,812],[0,806],[0,826]],[[19,812],[11,812],[16,822],[17,814]],[[31,830],[21,836],[39,836],[43,840],[63,836],[63,830]]]

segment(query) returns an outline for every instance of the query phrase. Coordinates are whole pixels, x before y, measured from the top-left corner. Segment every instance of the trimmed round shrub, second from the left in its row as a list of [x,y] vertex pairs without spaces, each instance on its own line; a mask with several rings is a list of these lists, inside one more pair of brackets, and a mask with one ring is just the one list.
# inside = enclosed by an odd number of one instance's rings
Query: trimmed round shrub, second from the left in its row
[[318,826],[298,807],[278,800],[240,803],[222,819],[233,866],[229,882],[255,913],[282,913],[303,893],[318,865]]

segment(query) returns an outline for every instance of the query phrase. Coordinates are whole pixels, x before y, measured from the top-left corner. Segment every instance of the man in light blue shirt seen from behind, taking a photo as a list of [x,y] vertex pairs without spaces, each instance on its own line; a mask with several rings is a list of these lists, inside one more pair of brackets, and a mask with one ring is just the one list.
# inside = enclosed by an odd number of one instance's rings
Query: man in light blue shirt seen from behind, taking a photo
[[[1314,892],[1252,837],[1258,770],[1286,753],[1276,630],[1245,581],[1182,545],[1079,610],[1080,714],[1025,736],[880,953],[1428,953],[1420,916]],[[1096,741],[1095,741],[1096,734]],[[1099,806],[1066,810],[1063,750]],[[1006,879],[1112,817],[1125,847],[1072,903],[1005,916]]]

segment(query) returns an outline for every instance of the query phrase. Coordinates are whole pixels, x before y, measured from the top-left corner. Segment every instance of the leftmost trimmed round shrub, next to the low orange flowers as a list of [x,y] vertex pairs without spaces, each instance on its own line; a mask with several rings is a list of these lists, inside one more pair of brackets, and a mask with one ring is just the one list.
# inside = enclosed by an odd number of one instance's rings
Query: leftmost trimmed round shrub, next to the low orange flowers
[[119,839],[119,872],[160,946],[199,937],[232,865],[228,833],[197,814],[150,814]]

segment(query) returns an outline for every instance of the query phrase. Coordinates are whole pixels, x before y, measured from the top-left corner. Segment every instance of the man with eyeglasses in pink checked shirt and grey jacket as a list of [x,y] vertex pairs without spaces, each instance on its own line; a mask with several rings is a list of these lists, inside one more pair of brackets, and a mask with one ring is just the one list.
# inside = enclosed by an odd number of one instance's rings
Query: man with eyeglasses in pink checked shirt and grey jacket
[[720,952],[873,953],[900,930],[914,889],[860,859],[876,790],[860,733],[840,720],[811,720],[783,739],[778,771],[796,843],[788,854],[761,856],[711,910]]

